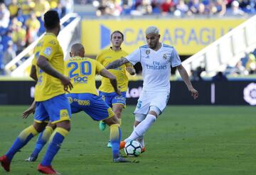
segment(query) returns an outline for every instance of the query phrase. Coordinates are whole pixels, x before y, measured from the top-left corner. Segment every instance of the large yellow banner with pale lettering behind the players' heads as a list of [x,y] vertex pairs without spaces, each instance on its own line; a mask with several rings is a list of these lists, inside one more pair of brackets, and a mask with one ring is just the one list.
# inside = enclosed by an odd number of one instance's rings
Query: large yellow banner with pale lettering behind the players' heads
[[148,26],[157,26],[160,41],[174,45],[179,55],[193,55],[245,19],[122,19],[122,20],[83,20],[81,41],[86,55],[97,55],[100,50],[110,47],[110,34],[114,30],[124,33],[122,47],[132,52],[146,45],[144,31]]

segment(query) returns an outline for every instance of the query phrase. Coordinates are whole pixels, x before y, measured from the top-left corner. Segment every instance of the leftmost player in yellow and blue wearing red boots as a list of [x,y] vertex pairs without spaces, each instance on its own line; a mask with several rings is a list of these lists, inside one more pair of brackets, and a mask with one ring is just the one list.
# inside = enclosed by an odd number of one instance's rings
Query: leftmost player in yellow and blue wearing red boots
[[[57,11],[48,11],[44,14],[44,26],[46,35],[36,45],[34,55],[36,57],[32,72],[37,79],[35,90],[36,113],[33,125],[23,130],[16,138],[8,152],[0,157],[1,166],[10,171],[11,160],[14,154],[38,132],[46,128],[46,121],[55,123],[57,128],[53,132],[48,149],[38,171],[44,174],[58,174],[52,166],[53,157],[60,149],[66,135],[70,130],[70,105],[65,91],[72,89],[73,85],[64,73],[63,50],[60,47],[57,35],[60,32],[60,18]],[[64,86],[64,89],[63,89]]]

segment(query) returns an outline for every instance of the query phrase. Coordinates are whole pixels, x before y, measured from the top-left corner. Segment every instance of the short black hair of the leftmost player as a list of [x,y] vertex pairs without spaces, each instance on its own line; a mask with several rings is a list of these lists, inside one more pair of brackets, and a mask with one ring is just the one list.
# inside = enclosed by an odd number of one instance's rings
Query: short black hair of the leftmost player
[[55,28],[60,23],[60,17],[58,16],[57,11],[47,11],[43,16],[43,19],[44,26],[48,30]]

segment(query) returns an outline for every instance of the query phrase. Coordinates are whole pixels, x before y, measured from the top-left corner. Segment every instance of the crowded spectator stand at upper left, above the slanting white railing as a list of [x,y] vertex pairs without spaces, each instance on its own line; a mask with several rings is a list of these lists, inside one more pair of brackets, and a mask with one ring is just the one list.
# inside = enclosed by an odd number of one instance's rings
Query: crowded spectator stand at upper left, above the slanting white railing
[[54,9],[63,17],[72,7],[69,0],[0,2],[0,74],[6,74],[4,66],[45,32],[43,13]]

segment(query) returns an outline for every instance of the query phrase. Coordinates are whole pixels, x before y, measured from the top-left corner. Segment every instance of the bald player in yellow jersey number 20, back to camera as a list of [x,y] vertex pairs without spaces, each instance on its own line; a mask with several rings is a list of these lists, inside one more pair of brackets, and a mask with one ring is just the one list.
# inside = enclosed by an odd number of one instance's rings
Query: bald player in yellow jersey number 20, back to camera
[[[80,56],[78,56],[80,55]],[[74,88],[70,91],[68,100],[70,101],[72,113],[85,111],[93,120],[103,120],[110,126],[110,141],[112,143],[112,154],[114,162],[129,162],[119,156],[119,142],[121,139],[121,129],[119,120],[112,108],[97,95],[95,86],[95,74],[100,74],[110,81],[114,93],[121,94],[117,89],[117,79],[105,67],[87,57],[81,44],[75,44],[70,52],[71,58],[65,61],[65,74],[71,79]]]

